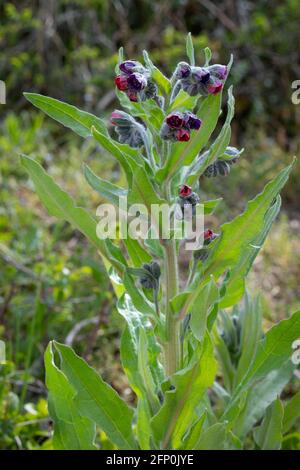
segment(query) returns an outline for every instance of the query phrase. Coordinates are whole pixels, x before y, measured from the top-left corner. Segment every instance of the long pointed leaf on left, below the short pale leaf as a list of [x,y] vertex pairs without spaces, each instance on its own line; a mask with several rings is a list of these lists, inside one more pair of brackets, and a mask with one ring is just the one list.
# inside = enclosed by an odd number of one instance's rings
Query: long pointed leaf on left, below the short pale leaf
[[[77,207],[69,194],[63,191],[49,176],[43,167],[25,155],[21,156],[22,165],[28,171],[32,181],[34,182],[35,189],[41,199],[42,203],[48,210],[50,215],[58,219],[66,220],[72,224],[76,229],[82,232],[99,250],[111,264],[118,270],[123,269],[119,259],[108,248],[106,240],[98,238],[96,233],[97,222],[93,217],[82,207]],[[114,246],[114,251],[120,250]]]

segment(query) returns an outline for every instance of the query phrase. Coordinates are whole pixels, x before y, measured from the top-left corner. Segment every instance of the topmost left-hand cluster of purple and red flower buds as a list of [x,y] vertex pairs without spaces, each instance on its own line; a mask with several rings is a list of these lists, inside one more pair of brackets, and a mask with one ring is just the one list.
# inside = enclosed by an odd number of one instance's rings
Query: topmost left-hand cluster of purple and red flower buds
[[157,87],[140,62],[126,60],[119,64],[119,69],[120,74],[115,77],[116,87],[124,91],[130,101],[145,101],[156,96]]

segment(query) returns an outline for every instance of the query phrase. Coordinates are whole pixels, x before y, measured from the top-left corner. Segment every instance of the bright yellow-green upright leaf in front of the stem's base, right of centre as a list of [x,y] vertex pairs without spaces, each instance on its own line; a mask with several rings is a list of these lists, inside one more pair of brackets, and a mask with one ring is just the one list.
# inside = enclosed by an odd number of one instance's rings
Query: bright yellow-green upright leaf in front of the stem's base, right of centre
[[165,393],[164,404],[152,420],[153,437],[162,449],[182,446],[183,437],[193,424],[195,408],[213,384],[216,370],[213,344],[206,335],[192,363],[173,375],[175,389]]

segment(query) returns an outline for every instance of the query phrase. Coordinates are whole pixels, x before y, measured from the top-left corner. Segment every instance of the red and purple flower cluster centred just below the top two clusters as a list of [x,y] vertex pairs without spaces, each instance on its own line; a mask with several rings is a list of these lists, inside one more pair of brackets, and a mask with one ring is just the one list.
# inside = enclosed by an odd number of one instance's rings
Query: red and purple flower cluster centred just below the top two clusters
[[160,136],[165,140],[187,142],[190,140],[190,131],[198,131],[201,124],[201,120],[190,111],[184,113],[176,111],[169,114],[164,120]]

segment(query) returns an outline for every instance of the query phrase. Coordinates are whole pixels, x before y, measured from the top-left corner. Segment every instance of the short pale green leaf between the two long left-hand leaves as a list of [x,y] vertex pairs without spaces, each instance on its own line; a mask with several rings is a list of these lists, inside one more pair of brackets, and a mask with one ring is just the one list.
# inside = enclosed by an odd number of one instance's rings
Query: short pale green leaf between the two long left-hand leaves
[[104,197],[116,207],[119,207],[119,200],[127,196],[127,189],[106,181],[97,176],[87,165],[83,167],[84,176],[89,185],[97,191],[100,196]]

